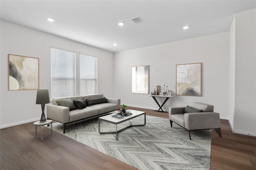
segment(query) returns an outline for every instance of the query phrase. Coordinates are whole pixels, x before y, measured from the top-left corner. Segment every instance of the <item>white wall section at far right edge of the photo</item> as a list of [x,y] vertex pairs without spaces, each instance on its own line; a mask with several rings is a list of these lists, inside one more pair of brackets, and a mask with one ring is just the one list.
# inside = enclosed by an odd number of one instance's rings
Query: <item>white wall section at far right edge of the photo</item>
[[256,8],[236,14],[235,132],[256,136]]

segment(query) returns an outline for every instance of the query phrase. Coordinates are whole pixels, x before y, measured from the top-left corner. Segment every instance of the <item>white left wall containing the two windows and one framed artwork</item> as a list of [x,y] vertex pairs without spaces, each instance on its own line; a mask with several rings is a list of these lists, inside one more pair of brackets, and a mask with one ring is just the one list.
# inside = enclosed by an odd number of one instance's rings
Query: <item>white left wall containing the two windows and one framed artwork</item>
[[[8,91],[8,54],[39,58],[40,89],[49,89],[49,91],[51,46],[76,51],[77,55],[85,53],[96,56],[98,57],[98,93],[106,97],[113,96],[113,53],[2,20],[0,24],[0,128],[39,120],[42,113],[41,106],[36,105],[36,90]],[[79,67],[77,69],[79,71]],[[79,76],[79,73],[77,75]],[[79,86],[79,77],[77,77],[78,89]],[[77,95],[80,95],[80,91],[77,91]]]

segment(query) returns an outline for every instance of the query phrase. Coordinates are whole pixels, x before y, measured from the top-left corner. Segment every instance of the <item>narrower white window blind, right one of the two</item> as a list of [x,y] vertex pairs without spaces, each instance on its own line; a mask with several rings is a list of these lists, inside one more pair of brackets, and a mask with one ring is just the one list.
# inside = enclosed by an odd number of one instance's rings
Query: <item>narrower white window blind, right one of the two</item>
[[80,54],[81,96],[98,94],[98,58]]

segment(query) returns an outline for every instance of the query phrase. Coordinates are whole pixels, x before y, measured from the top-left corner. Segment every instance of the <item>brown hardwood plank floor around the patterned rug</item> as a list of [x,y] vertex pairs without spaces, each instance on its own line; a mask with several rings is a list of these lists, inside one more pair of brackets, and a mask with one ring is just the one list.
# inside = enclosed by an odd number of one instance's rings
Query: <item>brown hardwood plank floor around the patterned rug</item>
[[[127,108],[146,111],[146,115],[168,119],[168,113]],[[221,126],[222,138],[218,137],[215,130],[212,131],[210,169],[255,170],[256,138],[232,133],[226,120],[221,120]],[[48,134],[50,129],[43,127],[43,132]],[[1,170],[136,169],[55,131],[52,136],[41,141],[40,138],[34,137],[33,123],[3,128],[0,130],[0,135]]]

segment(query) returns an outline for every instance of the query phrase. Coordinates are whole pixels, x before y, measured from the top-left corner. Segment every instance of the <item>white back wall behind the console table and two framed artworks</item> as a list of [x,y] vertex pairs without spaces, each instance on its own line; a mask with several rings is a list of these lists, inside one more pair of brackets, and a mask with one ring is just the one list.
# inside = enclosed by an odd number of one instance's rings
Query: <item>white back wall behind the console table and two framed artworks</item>
[[[176,64],[199,62],[202,63],[202,97],[176,96]],[[164,111],[204,102],[214,105],[214,111],[222,119],[228,119],[228,32],[114,53],[114,97],[120,98],[121,104],[158,109],[148,95],[131,93],[131,67],[139,65],[150,65],[150,92],[163,83],[172,91],[174,97],[164,105]]]

